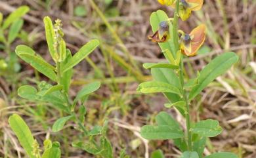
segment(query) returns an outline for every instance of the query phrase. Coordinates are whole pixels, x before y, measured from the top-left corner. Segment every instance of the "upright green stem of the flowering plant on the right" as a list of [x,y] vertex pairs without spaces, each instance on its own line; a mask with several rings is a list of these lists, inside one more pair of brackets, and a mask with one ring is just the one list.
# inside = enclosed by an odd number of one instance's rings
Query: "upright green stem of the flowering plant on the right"
[[[179,0],[176,0],[175,3],[175,12],[174,12],[174,18],[173,18],[173,42],[175,45],[175,52],[179,51],[179,36],[178,36],[178,12],[179,12]],[[183,60],[182,60],[182,56],[181,56],[181,62],[179,63],[179,79],[181,82],[181,88],[182,88],[182,97],[184,99],[184,101],[186,102],[186,132],[187,132],[187,136],[188,136],[188,151],[191,151],[192,149],[192,136],[191,136],[191,132],[190,132],[190,115],[189,115],[189,104],[188,104],[188,98],[186,96],[186,90],[184,90],[184,75],[183,75]]]

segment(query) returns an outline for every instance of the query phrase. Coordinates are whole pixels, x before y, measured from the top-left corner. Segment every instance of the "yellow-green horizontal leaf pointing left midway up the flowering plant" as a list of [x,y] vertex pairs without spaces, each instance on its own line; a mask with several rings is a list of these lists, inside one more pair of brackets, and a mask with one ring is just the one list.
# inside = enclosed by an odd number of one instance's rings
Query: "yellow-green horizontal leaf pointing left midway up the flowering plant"
[[159,81],[148,81],[148,82],[140,83],[137,90],[142,93],[172,92],[175,94],[181,94],[180,90],[177,89],[177,87],[170,85],[168,83],[159,82]]

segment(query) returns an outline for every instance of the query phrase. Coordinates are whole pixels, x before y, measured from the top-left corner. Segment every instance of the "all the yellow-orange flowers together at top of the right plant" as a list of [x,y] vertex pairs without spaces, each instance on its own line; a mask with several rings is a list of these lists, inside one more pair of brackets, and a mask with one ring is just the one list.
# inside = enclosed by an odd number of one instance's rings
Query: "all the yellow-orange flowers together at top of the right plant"
[[[158,0],[161,5],[167,5],[175,7],[174,0]],[[194,10],[200,10],[203,5],[203,0],[180,0],[179,1],[179,17],[181,20],[187,20]],[[158,31],[153,35],[149,35],[148,39],[157,43],[167,42],[170,38],[169,32],[169,22],[160,22]],[[205,25],[194,28],[190,33],[184,33],[184,31],[179,30],[179,42],[180,50],[182,54],[186,56],[194,56],[200,47],[203,45],[205,40]]]

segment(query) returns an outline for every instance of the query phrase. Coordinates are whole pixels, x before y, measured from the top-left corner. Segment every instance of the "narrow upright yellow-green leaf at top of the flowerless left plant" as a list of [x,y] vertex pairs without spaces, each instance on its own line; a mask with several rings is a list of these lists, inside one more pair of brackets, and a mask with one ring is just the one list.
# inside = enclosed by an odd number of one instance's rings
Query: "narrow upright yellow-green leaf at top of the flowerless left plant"
[[53,30],[53,22],[49,16],[45,16],[45,18],[43,18],[43,23],[45,24],[45,37],[46,37],[47,45],[49,48],[49,52],[50,52],[53,60],[56,62],[57,52],[54,49],[55,32]]

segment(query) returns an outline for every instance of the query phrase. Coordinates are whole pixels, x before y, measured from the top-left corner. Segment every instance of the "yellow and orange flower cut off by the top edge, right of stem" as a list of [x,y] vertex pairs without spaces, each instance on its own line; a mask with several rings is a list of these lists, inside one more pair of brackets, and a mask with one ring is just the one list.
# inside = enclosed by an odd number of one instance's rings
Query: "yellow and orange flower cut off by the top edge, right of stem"
[[[185,21],[189,18],[192,11],[200,10],[203,5],[203,0],[180,0],[179,16]],[[172,7],[175,7],[173,3]]]

